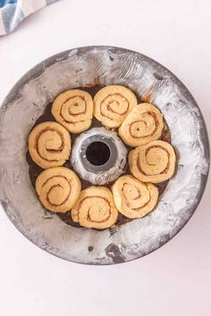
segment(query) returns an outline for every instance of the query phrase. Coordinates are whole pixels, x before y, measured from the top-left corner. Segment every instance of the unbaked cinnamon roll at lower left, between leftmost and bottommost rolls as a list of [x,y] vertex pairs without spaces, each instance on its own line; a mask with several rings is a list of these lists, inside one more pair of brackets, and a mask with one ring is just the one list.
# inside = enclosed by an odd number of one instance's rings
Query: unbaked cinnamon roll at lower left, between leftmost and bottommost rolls
[[70,211],[80,195],[80,189],[79,177],[65,167],[44,170],[36,180],[39,200],[52,212]]

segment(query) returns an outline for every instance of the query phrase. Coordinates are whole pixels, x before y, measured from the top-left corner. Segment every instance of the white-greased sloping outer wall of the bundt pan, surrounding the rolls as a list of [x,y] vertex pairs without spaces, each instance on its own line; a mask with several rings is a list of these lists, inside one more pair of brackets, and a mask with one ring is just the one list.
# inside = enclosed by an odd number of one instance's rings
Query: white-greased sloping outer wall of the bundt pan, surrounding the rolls
[[[46,212],[31,186],[27,139],[46,104],[66,89],[98,83],[130,87],[165,116],[177,169],[146,217],[99,231],[65,224]],[[198,105],[172,72],[143,54],[112,46],[68,50],[26,73],[0,109],[1,202],[9,219],[35,245],[71,262],[129,262],[168,242],[190,220],[209,167],[207,129]]]

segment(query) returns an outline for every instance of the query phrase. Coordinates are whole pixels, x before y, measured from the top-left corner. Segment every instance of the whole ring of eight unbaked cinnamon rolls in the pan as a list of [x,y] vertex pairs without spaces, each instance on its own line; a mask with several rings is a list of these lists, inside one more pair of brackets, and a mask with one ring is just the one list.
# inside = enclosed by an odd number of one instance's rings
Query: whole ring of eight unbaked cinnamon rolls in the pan
[[[38,124],[29,136],[30,156],[43,169],[35,188],[47,210],[72,211],[72,220],[80,226],[107,229],[119,212],[136,219],[155,209],[156,184],[173,176],[176,163],[173,146],[160,140],[165,124],[155,105],[138,104],[128,87],[108,86],[94,99],[80,89],[65,91],[55,98],[51,112],[55,121]],[[78,175],[63,164],[70,158],[71,133],[89,129],[93,115],[105,128],[118,129],[122,141],[133,147],[128,155],[131,174],[110,188],[81,190]]]

